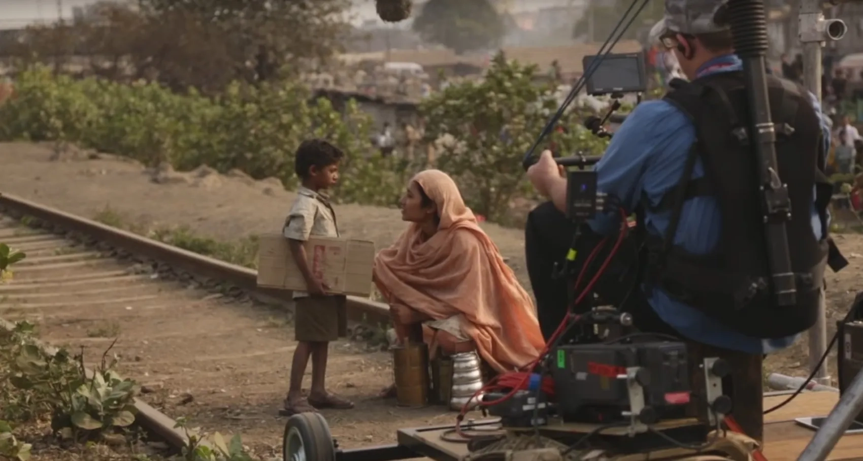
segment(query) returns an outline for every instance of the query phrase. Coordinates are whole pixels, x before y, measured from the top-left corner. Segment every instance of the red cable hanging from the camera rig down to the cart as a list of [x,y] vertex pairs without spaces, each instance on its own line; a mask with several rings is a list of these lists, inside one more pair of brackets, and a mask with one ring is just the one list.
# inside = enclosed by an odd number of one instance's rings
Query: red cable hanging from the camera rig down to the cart
[[[600,277],[602,276],[602,273],[604,273],[605,270],[608,268],[608,265],[611,263],[611,260],[614,258],[614,255],[617,254],[617,250],[620,249],[620,244],[623,243],[624,237],[627,236],[627,230],[629,230],[629,225],[627,223],[627,214],[623,210],[623,208],[620,208],[620,218],[621,218],[620,233],[617,236],[617,241],[614,242],[614,247],[612,247],[611,252],[608,253],[608,256],[606,257],[605,261],[602,262],[602,266],[600,266],[600,268],[596,271],[596,274],[594,275],[594,277],[592,279],[590,279],[587,287],[584,287],[584,290],[581,292],[581,294],[578,295],[575,302],[573,302],[572,305],[569,307],[569,309],[567,309],[567,314],[564,317],[564,320],[560,322],[560,325],[557,325],[557,330],[555,330],[555,332],[551,334],[551,338],[549,338],[548,342],[545,343],[545,347],[543,347],[543,350],[539,353],[539,356],[532,363],[527,365],[526,371],[508,372],[508,373],[503,373],[503,374],[498,375],[498,376],[494,376],[494,378],[492,378],[492,380],[490,382],[488,382],[488,384],[483,386],[480,390],[476,391],[476,393],[474,393],[474,395],[471,395],[470,398],[468,399],[468,401],[465,402],[465,404],[463,405],[462,411],[459,412],[458,416],[456,417],[456,432],[459,435],[467,438],[467,435],[464,434],[461,430],[461,422],[462,422],[462,420],[464,420],[464,416],[469,411],[470,402],[474,401],[474,399],[476,399],[476,397],[478,395],[481,395],[482,393],[488,392],[489,390],[509,388],[510,390],[509,390],[509,392],[507,392],[507,395],[504,395],[500,399],[497,399],[494,401],[481,401],[481,402],[479,402],[479,405],[482,407],[491,407],[494,405],[501,404],[502,402],[513,398],[513,395],[515,395],[515,393],[520,391],[520,390],[526,390],[526,389],[530,388],[528,385],[528,382],[531,379],[531,376],[533,374],[533,370],[536,369],[537,365],[542,361],[543,357],[545,357],[548,354],[548,349],[549,349],[549,347],[551,347],[551,344],[555,344],[557,342],[557,337],[559,337],[560,335],[562,335],[566,331],[566,326],[569,325],[570,321],[576,322],[576,321],[578,321],[578,319],[580,319],[581,316],[574,315],[572,313],[572,309],[575,306],[578,306],[582,302],[582,300],[584,300],[584,297],[590,293],[590,290],[593,289],[596,282],[599,281]],[[584,268],[587,268],[587,264],[589,264],[589,262],[591,262],[593,260],[593,258],[599,254],[599,250],[602,249],[602,246],[604,246],[604,243],[605,243],[605,240],[602,240],[602,242],[600,242],[593,249],[593,251],[590,252],[588,259],[585,261]],[[585,270],[582,270],[582,272],[578,275],[578,278],[576,279],[575,289],[577,289],[578,286],[581,284],[584,272],[585,272]],[[547,383],[546,383],[545,378],[547,378]],[[551,378],[548,376],[545,376],[545,378],[541,382],[541,386],[543,388],[543,391],[546,392],[548,395],[554,395],[554,388],[553,388],[554,382],[551,381]],[[504,384],[502,384],[502,382],[507,382],[509,385],[505,386]]]

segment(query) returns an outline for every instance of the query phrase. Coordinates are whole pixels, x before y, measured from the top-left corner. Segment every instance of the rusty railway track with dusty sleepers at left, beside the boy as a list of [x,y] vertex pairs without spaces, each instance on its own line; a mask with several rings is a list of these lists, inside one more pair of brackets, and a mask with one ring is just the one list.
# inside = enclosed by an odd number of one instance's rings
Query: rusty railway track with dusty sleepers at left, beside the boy
[[[255,287],[254,271],[9,195],[0,195],[0,242],[27,253],[0,286],[0,319],[35,320],[43,341],[83,348],[88,363],[117,338],[118,371],[148,391],[139,402],[145,429],[178,447],[185,439],[173,418],[185,416],[205,431],[242,433],[249,445],[278,444],[293,327],[284,294]],[[351,299],[349,312],[355,322],[387,321],[386,307],[369,300]],[[356,402],[324,412],[342,446],[452,419],[376,399],[388,366],[388,354],[362,342],[331,345],[328,383]]]

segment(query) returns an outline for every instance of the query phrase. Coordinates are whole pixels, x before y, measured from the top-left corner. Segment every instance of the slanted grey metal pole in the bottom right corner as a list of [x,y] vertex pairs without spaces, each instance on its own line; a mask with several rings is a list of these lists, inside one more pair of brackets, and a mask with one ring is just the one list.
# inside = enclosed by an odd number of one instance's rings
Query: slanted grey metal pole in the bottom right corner
[[863,411],[863,371],[854,377],[854,381],[842,393],[839,402],[828,414],[815,436],[809,440],[809,445],[806,445],[797,461],[827,459],[836,442],[848,430],[848,426],[851,426],[860,411]]

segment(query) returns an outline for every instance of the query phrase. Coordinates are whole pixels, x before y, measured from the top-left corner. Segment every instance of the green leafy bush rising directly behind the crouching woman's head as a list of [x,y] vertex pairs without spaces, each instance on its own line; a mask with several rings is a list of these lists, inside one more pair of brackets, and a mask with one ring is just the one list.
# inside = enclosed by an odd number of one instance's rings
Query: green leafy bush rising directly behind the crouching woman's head
[[[437,167],[456,179],[464,199],[488,220],[513,224],[513,199],[532,190],[523,155],[560,103],[553,84],[537,85],[538,68],[498,54],[481,83],[451,85],[422,103],[425,136],[436,142]],[[560,155],[602,153],[607,145],[582,128],[587,115],[572,108],[540,146]],[[450,137],[451,136],[451,137]]]

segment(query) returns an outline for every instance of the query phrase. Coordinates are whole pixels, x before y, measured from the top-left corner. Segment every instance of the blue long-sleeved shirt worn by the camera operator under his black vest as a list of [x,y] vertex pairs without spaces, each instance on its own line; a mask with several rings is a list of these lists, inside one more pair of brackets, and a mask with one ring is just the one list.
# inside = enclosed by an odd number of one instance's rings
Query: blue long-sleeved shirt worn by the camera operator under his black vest
[[[698,75],[738,71],[741,66],[740,58],[729,54],[705,63]],[[811,93],[809,96],[822,120],[826,144],[824,152],[827,152],[830,142],[829,125],[822,114],[818,99]],[[635,209],[642,192],[646,193],[653,205],[657,205],[662,196],[676,186],[683,175],[683,165],[695,139],[695,126],[677,107],[663,100],[639,104],[614,133],[605,155],[596,164],[599,191],[620,199],[620,204],[627,212]],[[699,178],[703,174],[704,168],[699,160],[692,178]],[[811,213],[812,230],[820,239],[822,223],[814,203]],[[665,235],[670,216],[671,212],[646,211],[646,230],[652,235]],[[688,199],[683,204],[674,243],[693,254],[709,253],[719,240],[720,219],[719,207],[714,198]],[[589,224],[598,233],[611,234],[619,229],[620,218],[602,215]],[[694,307],[672,300],[661,289],[653,289],[648,301],[665,323],[684,337],[703,344],[764,354],[784,349],[797,339],[797,335],[770,340],[747,337],[710,319]]]

